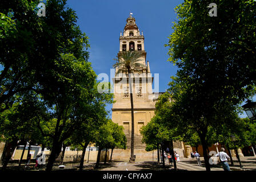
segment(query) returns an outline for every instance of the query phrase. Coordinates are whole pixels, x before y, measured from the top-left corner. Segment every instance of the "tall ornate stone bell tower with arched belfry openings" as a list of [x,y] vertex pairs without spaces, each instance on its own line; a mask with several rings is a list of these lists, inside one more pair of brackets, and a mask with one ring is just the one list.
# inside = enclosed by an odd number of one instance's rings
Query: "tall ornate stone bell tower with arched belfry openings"
[[[157,97],[152,92],[153,77],[150,73],[149,61],[146,61],[146,51],[144,47],[143,32],[139,31],[135,18],[131,15],[126,19],[126,25],[119,37],[118,58],[121,58],[122,51],[135,51],[141,55],[139,63],[142,66],[131,68],[131,84],[133,89],[134,105],[134,155],[136,159],[145,158],[145,153],[149,153],[152,158],[152,152],[145,151],[145,144],[142,143],[142,135],[139,130],[147,125],[154,116],[155,102]],[[118,69],[121,72],[117,74]],[[123,68],[115,69],[114,82],[114,100],[112,108],[112,120],[125,128],[127,138],[127,150],[114,150],[113,158],[129,159],[131,144],[131,103],[130,88],[127,70]]]

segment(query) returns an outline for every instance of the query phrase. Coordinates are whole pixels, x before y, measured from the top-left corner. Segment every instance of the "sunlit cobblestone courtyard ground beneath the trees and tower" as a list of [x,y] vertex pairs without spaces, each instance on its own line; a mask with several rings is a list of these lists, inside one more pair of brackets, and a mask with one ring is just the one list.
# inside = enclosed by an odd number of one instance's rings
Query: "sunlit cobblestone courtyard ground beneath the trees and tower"
[[[229,166],[231,171],[256,171],[256,157],[243,157],[241,158],[242,168],[240,168],[237,158],[233,158],[234,166],[231,166],[229,162]],[[197,160],[195,159],[181,159],[181,162],[177,163],[177,168],[179,171],[205,171],[204,161],[201,158],[202,166],[198,166]],[[152,161],[143,161],[136,160],[135,163],[129,163],[129,161],[113,161],[112,163],[107,163],[103,165],[100,163],[98,169],[94,169],[95,162],[84,163],[84,170],[99,170],[99,171],[144,171],[144,170],[173,170],[174,167],[170,166],[166,160],[167,164],[165,168],[162,164],[157,164],[156,160]],[[34,166],[33,163],[30,165],[30,170]],[[0,166],[1,168],[2,166]],[[7,170],[23,170],[24,167],[18,168],[18,164],[9,164]],[[45,168],[43,168],[44,170]],[[27,170],[27,169],[26,169]],[[73,169],[74,170],[74,169]],[[221,164],[211,166],[211,171],[223,171]]]

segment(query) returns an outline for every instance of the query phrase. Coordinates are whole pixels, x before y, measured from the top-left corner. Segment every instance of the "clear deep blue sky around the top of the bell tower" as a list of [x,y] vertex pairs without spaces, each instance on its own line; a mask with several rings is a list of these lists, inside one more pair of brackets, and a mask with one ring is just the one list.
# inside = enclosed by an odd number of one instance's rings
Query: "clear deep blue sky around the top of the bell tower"
[[[120,32],[123,32],[129,13],[133,13],[139,31],[143,31],[145,36],[145,51],[151,73],[159,73],[159,92],[165,92],[170,76],[175,75],[177,68],[167,61],[168,47],[164,45],[173,32],[171,27],[174,20],[177,20],[174,8],[182,2],[183,0],[68,0],[67,6],[76,11],[77,24],[89,36],[90,62],[94,71],[97,75],[106,73],[109,77],[113,59],[119,51]],[[255,99],[254,97],[254,101]],[[110,110],[111,105],[107,109]]]

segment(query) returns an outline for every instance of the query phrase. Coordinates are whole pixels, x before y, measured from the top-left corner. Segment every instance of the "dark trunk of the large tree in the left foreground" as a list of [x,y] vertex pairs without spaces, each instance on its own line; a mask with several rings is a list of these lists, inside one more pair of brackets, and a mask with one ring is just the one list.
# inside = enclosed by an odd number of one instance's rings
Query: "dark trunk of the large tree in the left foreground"
[[51,171],[53,169],[53,163],[55,159],[58,158],[59,153],[61,152],[62,142],[58,142],[57,139],[53,141],[53,148],[51,148],[51,154],[46,165],[46,171]]

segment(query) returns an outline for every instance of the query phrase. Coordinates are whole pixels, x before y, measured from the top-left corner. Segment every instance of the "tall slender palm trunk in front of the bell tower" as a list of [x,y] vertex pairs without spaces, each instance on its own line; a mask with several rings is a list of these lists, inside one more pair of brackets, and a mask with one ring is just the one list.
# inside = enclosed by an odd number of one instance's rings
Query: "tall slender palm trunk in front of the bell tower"
[[129,74],[129,87],[130,87],[130,101],[131,101],[131,157],[129,163],[134,163],[134,109],[133,109],[133,88],[131,88],[131,75],[130,69],[128,68]]

